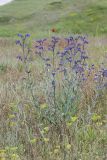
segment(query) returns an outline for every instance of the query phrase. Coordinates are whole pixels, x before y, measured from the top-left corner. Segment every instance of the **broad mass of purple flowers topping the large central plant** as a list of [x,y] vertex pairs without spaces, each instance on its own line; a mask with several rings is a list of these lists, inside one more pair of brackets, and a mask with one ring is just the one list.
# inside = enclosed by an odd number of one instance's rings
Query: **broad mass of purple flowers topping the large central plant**
[[[46,47],[44,46],[44,41],[49,41],[48,39],[43,39],[36,41],[36,49],[41,53],[41,57],[45,62],[47,70],[51,72],[51,75],[56,75],[59,72],[75,72],[76,74],[81,74],[84,78],[84,71],[86,68],[86,60],[88,56],[86,54],[85,46],[88,44],[86,37],[68,37],[64,38],[66,46],[59,50],[58,45],[61,41],[59,37],[52,37],[50,43]],[[44,50],[45,48],[45,50]],[[46,54],[44,54],[46,51]],[[53,74],[54,73],[54,74]]]

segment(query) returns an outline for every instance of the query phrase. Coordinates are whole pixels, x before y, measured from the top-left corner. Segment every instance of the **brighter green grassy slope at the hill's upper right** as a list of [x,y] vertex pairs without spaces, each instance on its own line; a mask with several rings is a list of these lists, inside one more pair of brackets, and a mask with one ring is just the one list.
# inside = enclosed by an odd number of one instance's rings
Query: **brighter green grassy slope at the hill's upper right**
[[56,24],[56,28],[62,31],[73,33],[86,33],[99,35],[107,33],[107,4],[90,4],[80,12],[71,12],[66,17],[61,18]]

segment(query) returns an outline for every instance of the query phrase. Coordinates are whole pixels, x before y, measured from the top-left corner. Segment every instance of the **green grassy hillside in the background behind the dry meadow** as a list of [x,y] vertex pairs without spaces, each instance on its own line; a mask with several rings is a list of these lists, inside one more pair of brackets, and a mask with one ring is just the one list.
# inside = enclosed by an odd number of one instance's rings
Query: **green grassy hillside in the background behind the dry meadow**
[[34,37],[57,34],[107,33],[106,0],[14,0],[0,7],[0,36],[30,32]]

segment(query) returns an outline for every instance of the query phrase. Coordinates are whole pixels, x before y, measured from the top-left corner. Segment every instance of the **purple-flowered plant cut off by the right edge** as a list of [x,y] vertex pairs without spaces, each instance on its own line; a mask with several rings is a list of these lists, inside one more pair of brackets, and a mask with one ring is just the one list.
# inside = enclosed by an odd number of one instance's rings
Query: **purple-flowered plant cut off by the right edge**
[[92,77],[93,80],[93,86],[94,86],[94,94],[91,100],[91,110],[98,106],[98,104],[105,105],[106,103],[106,94],[107,94],[107,68],[106,63],[101,63],[99,67],[95,67],[93,64],[89,68],[89,74]]

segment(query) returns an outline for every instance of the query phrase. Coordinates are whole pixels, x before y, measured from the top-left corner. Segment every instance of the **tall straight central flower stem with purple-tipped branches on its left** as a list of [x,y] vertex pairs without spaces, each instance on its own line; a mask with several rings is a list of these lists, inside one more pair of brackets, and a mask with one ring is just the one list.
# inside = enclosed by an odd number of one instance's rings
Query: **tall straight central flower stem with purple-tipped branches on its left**
[[[50,41],[47,47],[44,42]],[[48,105],[50,106],[51,118],[56,118],[57,116],[57,102],[56,102],[56,76],[58,73],[58,55],[57,55],[57,44],[59,38],[52,37],[51,39],[43,39],[36,41],[36,53],[39,53],[45,64],[45,73],[46,73],[46,89],[45,93],[47,95],[46,99],[48,101]],[[42,46],[41,46],[42,45]],[[41,54],[42,53],[42,54]],[[49,100],[50,99],[50,100]],[[52,116],[53,114],[53,116]]]

